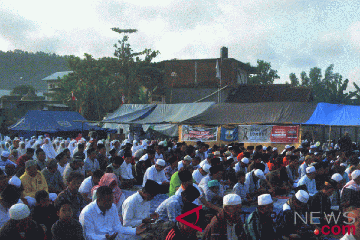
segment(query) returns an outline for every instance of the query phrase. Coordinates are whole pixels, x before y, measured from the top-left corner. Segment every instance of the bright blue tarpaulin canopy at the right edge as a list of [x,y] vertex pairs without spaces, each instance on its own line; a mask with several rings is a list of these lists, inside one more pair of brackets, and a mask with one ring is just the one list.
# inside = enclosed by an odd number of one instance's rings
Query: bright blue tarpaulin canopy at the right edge
[[360,106],[318,103],[309,120],[302,124],[360,126]]

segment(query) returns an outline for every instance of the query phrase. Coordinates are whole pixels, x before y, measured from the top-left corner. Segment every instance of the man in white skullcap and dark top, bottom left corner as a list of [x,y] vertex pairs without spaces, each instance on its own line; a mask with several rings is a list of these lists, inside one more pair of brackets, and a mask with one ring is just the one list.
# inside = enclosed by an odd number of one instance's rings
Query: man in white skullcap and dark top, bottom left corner
[[[10,220],[1,228],[0,239],[37,239],[44,240],[46,235],[39,223],[31,220],[27,205],[18,203],[10,210]],[[25,236],[28,236],[25,238]],[[30,237],[31,236],[31,237]]]

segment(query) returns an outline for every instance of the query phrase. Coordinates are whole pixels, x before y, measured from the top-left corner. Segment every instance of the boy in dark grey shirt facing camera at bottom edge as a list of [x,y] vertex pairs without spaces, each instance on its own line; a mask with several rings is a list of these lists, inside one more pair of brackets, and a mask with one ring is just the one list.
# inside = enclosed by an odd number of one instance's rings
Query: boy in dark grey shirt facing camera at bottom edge
[[59,220],[51,228],[53,240],[85,240],[80,222],[72,218],[72,207],[68,200],[56,205]]

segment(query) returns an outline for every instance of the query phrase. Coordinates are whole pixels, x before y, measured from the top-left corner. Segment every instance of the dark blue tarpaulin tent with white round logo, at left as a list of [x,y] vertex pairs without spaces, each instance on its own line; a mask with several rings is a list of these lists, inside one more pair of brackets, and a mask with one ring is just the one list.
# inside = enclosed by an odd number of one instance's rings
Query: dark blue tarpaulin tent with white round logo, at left
[[[49,133],[50,136],[75,138],[81,132],[82,123],[73,122],[73,120],[86,121],[77,112],[29,110],[17,123],[8,129],[16,131],[19,136],[29,139],[33,135],[44,135],[44,133]],[[84,131],[89,131],[91,128],[100,129],[84,123]]]

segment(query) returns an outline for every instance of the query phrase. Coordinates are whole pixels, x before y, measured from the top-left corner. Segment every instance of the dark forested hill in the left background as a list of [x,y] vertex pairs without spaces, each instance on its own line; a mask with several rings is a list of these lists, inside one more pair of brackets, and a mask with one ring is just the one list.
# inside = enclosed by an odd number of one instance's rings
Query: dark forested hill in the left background
[[[41,51],[0,51],[0,89],[12,89],[23,84],[32,85],[37,91],[43,92],[46,90],[46,82],[41,79],[63,71],[70,71],[67,56]],[[20,80],[20,77],[23,79]]]

